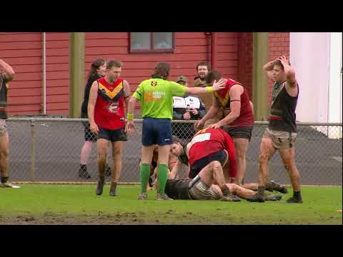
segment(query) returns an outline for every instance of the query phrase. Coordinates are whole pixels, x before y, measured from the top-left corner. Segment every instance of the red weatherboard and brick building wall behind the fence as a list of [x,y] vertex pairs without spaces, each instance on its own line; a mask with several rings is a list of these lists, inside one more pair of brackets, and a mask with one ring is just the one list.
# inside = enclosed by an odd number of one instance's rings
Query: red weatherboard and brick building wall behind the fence
[[[215,39],[209,32],[160,34],[144,34],[141,40],[141,35],[129,32],[85,33],[85,77],[94,59],[119,59],[124,63],[121,76],[135,91],[158,61],[172,65],[170,79],[184,75],[190,80],[197,63],[208,61],[225,77],[241,81],[252,98],[252,33],[218,32]],[[158,46],[161,36],[169,39],[169,46]],[[280,54],[289,55],[289,33],[269,33],[269,60]],[[9,90],[9,114],[40,114],[43,33],[0,33],[0,57],[16,71]],[[46,114],[69,114],[68,33],[46,33]]]

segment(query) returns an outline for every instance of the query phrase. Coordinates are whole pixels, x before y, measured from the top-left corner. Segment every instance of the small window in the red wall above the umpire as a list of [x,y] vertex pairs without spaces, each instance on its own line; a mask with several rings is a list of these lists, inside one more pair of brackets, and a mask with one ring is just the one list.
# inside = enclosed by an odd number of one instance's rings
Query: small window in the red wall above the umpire
[[131,32],[130,52],[169,52],[174,51],[174,33],[172,32]]

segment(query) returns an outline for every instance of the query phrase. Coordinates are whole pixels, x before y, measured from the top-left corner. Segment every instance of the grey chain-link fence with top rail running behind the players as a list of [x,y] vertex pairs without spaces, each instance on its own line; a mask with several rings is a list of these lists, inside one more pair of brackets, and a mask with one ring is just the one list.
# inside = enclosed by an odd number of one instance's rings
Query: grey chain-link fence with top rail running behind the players
[[[98,177],[96,143],[87,163],[91,178],[79,178],[80,153],[84,145],[86,119],[11,118],[9,130],[9,173],[11,181],[95,182]],[[136,133],[124,144],[121,182],[139,182],[141,120]],[[195,133],[194,121],[172,121],[175,136],[188,140]],[[298,123],[296,164],[302,184],[342,185],[342,124]],[[255,122],[247,151],[244,181],[257,182],[259,144],[267,122]],[[111,150],[109,165],[112,166]],[[269,163],[270,179],[289,183],[279,154]],[[107,178],[109,180],[109,178]]]

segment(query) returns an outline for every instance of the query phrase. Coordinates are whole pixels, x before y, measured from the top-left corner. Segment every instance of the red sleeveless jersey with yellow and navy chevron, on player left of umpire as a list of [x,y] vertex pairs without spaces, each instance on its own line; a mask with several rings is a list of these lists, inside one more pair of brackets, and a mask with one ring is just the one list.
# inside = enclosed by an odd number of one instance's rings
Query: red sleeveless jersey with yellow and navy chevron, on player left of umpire
[[109,84],[105,78],[98,79],[98,96],[94,108],[94,121],[104,129],[122,129],[124,117],[124,80]]

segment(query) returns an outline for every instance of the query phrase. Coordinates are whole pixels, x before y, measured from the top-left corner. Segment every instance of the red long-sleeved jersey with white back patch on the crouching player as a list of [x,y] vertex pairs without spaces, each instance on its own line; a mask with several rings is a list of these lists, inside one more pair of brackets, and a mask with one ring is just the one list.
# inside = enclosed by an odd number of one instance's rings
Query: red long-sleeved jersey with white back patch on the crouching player
[[222,129],[202,129],[195,134],[190,142],[189,148],[189,164],[192,165],[196,161],[211,153],[226,150],[229,153],[229,168],[230,176],[236,177],[236,152],[234,150],[234,141],[227,132]]

